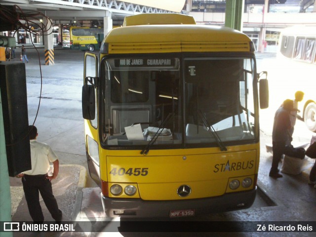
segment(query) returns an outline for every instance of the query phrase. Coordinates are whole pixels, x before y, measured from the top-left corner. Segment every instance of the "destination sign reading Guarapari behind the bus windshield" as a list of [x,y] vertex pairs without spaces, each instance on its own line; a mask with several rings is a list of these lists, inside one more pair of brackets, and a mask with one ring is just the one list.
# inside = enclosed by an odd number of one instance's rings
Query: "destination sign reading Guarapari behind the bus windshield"
[[115,59],[115,67],[174,67],[174,58],[122,58]]

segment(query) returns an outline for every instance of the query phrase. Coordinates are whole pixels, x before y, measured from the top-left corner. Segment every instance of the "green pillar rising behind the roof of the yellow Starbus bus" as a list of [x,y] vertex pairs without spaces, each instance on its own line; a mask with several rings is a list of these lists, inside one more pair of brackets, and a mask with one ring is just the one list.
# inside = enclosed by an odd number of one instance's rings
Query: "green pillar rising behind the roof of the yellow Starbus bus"
[[225,26],[242,31],[244,0],[227,0],[225,9]]

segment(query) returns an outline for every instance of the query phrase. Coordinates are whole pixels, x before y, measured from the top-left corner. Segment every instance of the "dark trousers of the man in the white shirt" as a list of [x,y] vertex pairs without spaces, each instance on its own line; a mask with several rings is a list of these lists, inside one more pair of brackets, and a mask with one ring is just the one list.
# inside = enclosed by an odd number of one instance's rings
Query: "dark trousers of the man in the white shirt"
[[33,221],[44,221],[43,212],[40,207],[40,195],[52,218],[56,221],[61,221],[62,211],[58,208],[56,198],[53,195],[51,182],[46,179],[46,175],[24,175],[22,183],[25,199],[28,203],[29,212]]

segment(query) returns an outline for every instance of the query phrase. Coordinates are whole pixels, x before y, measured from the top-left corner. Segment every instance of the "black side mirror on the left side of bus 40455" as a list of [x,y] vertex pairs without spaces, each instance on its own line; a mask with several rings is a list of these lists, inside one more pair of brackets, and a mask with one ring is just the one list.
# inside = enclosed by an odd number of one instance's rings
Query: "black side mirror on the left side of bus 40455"
[[89,120],[95,118],[95,87],[93,85],[82,86],[82,117]]

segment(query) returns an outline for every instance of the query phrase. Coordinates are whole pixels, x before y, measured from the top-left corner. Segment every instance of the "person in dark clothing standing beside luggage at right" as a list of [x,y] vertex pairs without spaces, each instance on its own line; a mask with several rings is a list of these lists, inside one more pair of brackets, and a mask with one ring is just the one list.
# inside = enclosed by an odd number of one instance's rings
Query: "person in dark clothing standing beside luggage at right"
[[287,99],[283,102],[283,106],[277,109],[273,123],[272,131],[272,150],[273,159],[269,176],[273,178],[281,178],[282,175],[278,170],[278,163],[280,162],[286,142],[292,141],[289,135],[291,128],[290,112],[293,110],[293,100]]

